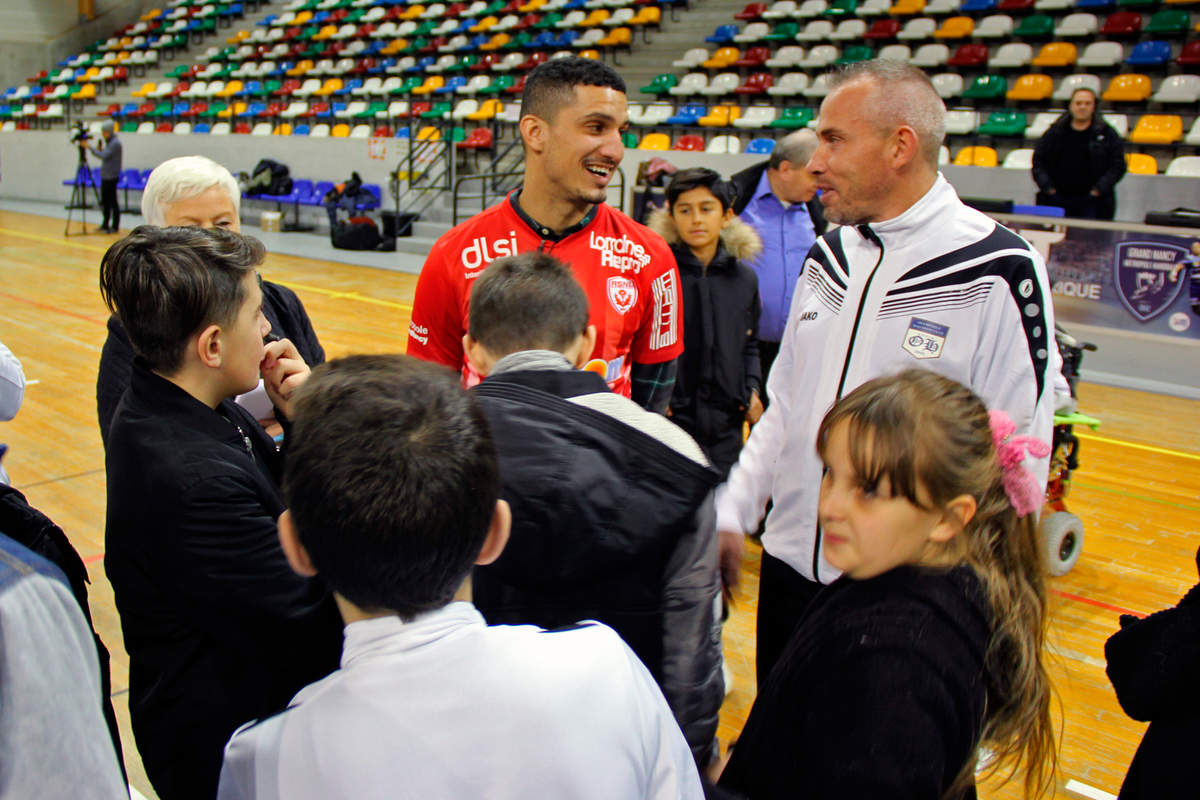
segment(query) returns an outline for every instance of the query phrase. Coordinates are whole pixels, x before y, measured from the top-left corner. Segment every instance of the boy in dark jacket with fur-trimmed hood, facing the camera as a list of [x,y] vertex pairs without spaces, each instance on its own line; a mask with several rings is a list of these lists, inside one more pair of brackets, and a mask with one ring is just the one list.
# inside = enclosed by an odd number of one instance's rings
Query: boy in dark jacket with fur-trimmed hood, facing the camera
[[758,277],[744,264],[762,241],[733,215],[733,186],[714,170],[684,169],[667,185],[667,209],[647,221],[671,245],[683,284],[684,350],[671,419],[722,477],[742,450],[743,422],[762,415],[763,396]]

